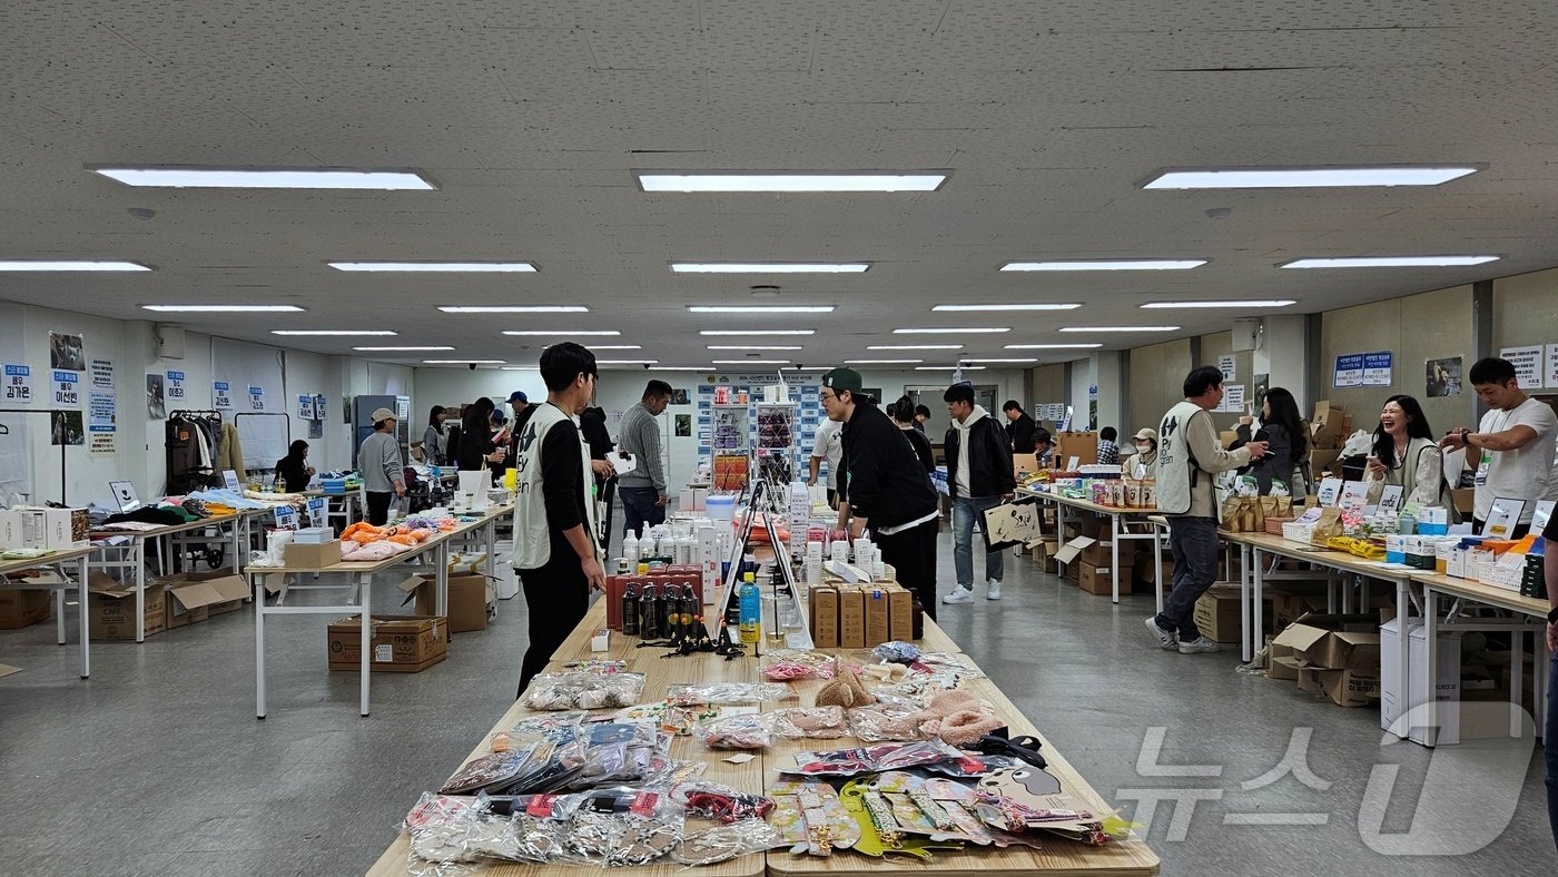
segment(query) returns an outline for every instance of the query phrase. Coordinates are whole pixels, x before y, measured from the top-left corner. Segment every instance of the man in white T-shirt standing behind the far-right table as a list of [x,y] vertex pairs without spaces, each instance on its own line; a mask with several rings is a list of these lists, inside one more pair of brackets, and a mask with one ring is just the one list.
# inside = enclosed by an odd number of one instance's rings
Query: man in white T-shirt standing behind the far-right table
[[1493,500],[1525,500],[1513,537],[1525,536],[1536,502],[1547,498],[1547,480],[1553,470],[1553,436],[1558,416],[1550,405],[1532,399],[1521,389],[1514,365],[1488,357],[1471,366],[1471,385],[1488,413],[1475,430],[1450,430],[1440,441],[1441,450],[1466,450],[1466,464],[1477,470],[1472,520],[1482,533]]

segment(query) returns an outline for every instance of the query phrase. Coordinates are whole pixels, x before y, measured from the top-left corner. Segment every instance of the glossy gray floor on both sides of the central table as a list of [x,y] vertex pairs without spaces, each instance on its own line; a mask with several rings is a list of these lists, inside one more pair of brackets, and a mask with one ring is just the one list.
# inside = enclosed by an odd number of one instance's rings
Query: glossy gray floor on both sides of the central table
[[[377,609],[394,606],[396,581],[377,584]],[[1142,628],[1150,595],[1112,606],[1027,559],[1008,558],[1003,600],[983,600],[983,586],[977,593],[972,604],[941,606],[941,625],[1123,815],[1151,818],[1147,840],[1164,874],[1558,872],[1536,755],[1519,788],[1505,790],[1519,805],[1513,819],[1493,819],[1491,843],[1421,855],[1483,830],[1457,822],[1421,841],[1413,835],[1405,846],[1419,855],[1374,852],[1359,829],[1371,770],[1399,765],[1384,833],[1407,832],[1433,755],[1382,746],[1376,709],[1341,709],[1292,682],[1237,674],[1232,653],[1159,651]],[[0,871],[333,875],[371,866],[418,794],[436,788],[513,703],[525,606],[522,597],[500,603],[492,628],[456,636],[449,660],[424,673],[375,673],[369,718],[357,715],[357,674],[326,671],[326,623],[304,615],[266,625],[265,721],[254,718],[249,611],[140,646],[95,643],[90,681],[78,679],[78,648],[55,645],[51,623],[0,631],[0,662],[23,668],[0,679]],[[73,615],[69,629],[73,639]],[[1309,766],[1332,785],[1317,791],[1287,776],[1243,790],[1282,762],[1295,729],[1312,729]],[[1158,735],[1144,776],[1144,740]],[[1220,773],[1151,776],[1161,773],[1154,763]],[[1468,798],[1489,791],[1479,777],[1461,777]],[[1170,802],[1148,815],[1137,812],[1139,790],[1203,799],[1193,810],[1179,804],[1178,815]],[[1326,824],[1225,824],[1229,813],[1295,812]]]

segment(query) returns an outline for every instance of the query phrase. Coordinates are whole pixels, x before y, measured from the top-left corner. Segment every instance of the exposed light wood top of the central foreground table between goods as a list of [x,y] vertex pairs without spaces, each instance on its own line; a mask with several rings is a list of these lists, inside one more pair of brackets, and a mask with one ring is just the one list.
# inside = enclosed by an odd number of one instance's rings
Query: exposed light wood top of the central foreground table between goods
[[[662,657],[664,650],[640,650],[637,637],[611,634],[609,648],[605,653],[590,653],[590,639],[606,626],[606,609],[603,600],[597,600],[583,622],[570,632],[569,639],[553,654],[548,671],[561,671],[566,664],[600,657],[606,660],[626,660],[628,670],[645,674],[642,703],[661,699],[667,685],[681,682],[757,682],[757,662],[751,657],[724,660],[717,654],[695,654],[689,657]],[[950,648],[946,648],[950,643]],[[925,637],[921,648],[927,651],[953,651],[957,646],[935,622],[925,620]],[[852,656],[855,660],[869,660],[869,653],[862,650],[824,650],[834,654]],[[972,665],[972,660],[963,657]],[[763,704],[765,710],[793,706],[810,706],[815,701],[821,681],[795,682],[795,699]],[[1000,692],[989,679],[978,679],[966,684],[966,690],[988,701],[996,712],[1006,720],[1013,735],[1031,734],[1041,737],[1039,731],[1022,715],[1022,712]],[[519,703],[503,713],[503,718],[492,726],[491,734],[506,731],[523,717],[536,715]],[[491,737],[489,734],[489,737]],[[483,738],[467,755],[477,759],[489,752],[488,738]],[[838,749],[857,745],[851,737],[841,740],[776,740],[776,745],[763,751],[757,759],[745,765],[731,765],[724,760],[726,752],[707,749],[692,737],[678,737],[671,743],[671,754],[678,759],[703,760],[709,765],[709,779],[732,785],[743,791],[760,793],[773,787],[779,776],[777,766],[793,766],[795,752],[809,749]],[[1108,802],[1077,773],[1064,757],[1044,741],[1044,757],[1066,791],[1086,802],[1098,812],[1112,812]],[[463,762],[464,763],[464,762]],[[463,765],[461,763],[461,765]],[[407,808],[411,807],[407,802]],[[402,832],[390,849],[379,857],[369,869],[372,877],[404,875],[410,854],[410,836]],[[541,875],[555,871],[552,866],[511,865],[494,866],[485,872],[502,875]],[[584,868],[580,874],[606,874],[605,869]],[[612,874],[645,874],[656,877],[684,875],[689,871],[675,863],[659,863],[647,868],[611,869]],[[827,874],[841,877],[883,877],[908,874],[972,874],[989,872],[997,875],[1047,874],[1047,875],[1150,875],[1158,872],[1158,855],[1142,841],[1111,843],[1102,847],[1091,847],[1064,838],[1044,838],[1044,849],[1013,846],[1008,849],[971,849],[971,851],[939,851],[936,857],[925,863],[913,857],[871,858],[862,854],[840,851],[832,857],[820,858],[810,855],[793,855],[785,849],[770,851],[765,855],[745,855],[721,865],[698,868],[696,874],[712,875],[754,875],[754,874]]]

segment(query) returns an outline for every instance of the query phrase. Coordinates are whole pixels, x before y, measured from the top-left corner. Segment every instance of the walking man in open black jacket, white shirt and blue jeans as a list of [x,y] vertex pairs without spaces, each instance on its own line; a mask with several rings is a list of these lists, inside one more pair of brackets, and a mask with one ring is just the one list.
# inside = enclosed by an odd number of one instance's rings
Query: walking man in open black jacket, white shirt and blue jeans
[[[952,565],[958,586],[941,601],[968,603],[974,600],[974,522],[983,517],[985,509],[1013,497],[1017,477],[1011,469],[1011,444],[989,413],[974,403],[974,386],[953,383],[943,399],[947,414],[952,414],[946,452],[947,489],[952,494]],[[1000,551],[985,553],[986,600],[1000,600],[1002,561]]]

